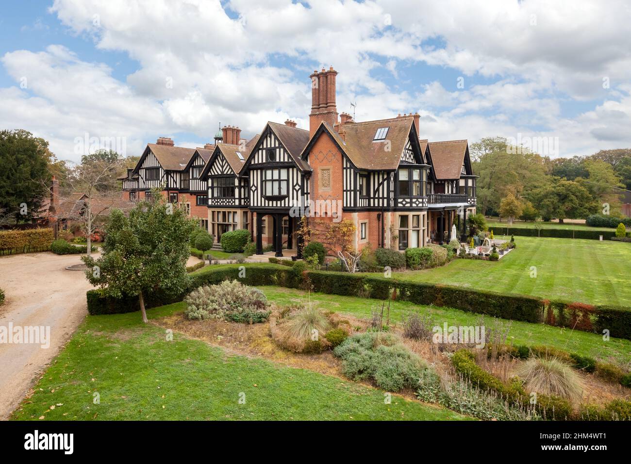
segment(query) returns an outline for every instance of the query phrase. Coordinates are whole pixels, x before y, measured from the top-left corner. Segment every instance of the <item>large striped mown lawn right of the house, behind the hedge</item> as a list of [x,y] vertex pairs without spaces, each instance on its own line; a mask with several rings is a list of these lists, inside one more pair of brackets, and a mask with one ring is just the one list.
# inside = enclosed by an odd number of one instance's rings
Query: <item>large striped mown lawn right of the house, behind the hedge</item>
[[[631,244],[536,237],[515,240],[517,248],[497,262],[455,259],[441,268],[392,275],[414,282],[631,307]],[[536,277],[531,277],[533,266]]]

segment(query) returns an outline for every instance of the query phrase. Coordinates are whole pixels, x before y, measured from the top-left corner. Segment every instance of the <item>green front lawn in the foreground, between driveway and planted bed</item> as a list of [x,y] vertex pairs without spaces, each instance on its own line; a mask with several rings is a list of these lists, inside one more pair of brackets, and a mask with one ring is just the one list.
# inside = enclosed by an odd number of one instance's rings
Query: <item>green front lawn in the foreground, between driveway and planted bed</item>
[[[182,303],[149,311],[149,318]],[[98,393],[100,403],[93,398]],[[245,403],[240,403],[240,399]],[[87,316],[11,419],[462,420],[444,408],[267,360],[229,355],[142,324],[138,312]]]

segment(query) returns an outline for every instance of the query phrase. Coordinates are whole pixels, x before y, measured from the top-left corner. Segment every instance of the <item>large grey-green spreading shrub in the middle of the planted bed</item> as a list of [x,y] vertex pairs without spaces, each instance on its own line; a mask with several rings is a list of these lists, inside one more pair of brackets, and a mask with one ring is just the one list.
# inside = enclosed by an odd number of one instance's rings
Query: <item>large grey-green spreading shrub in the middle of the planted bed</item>
[[342,372],[352,380],[372,379],[388,391],[413,388],[427,364],[404,347],[398,338],[384,333],[350,336],[333,350],[343,360]]

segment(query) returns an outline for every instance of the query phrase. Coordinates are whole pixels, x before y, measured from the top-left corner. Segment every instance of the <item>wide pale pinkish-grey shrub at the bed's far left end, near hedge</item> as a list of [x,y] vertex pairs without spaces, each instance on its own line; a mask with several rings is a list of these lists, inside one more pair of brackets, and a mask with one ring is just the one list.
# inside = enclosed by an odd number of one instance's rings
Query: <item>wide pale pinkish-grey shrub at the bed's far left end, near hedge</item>
[[262,322],[269,317],[267,299],[259,289],[247,287],[237,280],[199,287],[184,299],[189,319],[226,319],[239,322]]

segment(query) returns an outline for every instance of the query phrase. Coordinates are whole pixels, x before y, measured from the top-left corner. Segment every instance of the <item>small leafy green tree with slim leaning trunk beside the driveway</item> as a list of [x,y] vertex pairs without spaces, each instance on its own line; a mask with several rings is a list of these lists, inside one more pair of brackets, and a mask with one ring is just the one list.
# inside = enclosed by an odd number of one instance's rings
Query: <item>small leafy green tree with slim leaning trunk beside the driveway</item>
[[151,200],[139,202],[129,217],[121,210],[110,213],[102,256],[81,258],[88,266],[86,277],[111,297],[138,296],[146,323],[144,295],[156,291],[177,295],[186,290],[188,237],[194,227],[184,209],[167,204],[155,190]]

